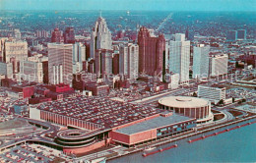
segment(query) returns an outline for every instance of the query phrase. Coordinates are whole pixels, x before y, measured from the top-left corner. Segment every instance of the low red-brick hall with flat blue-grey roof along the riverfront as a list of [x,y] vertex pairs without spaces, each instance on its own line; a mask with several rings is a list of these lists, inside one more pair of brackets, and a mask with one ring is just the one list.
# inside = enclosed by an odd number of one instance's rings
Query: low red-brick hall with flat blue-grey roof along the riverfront
[[196,127],[195,120],[194,118],[165,111],[155,118],[142,121],[138,124],[115,128],[110,133],[110,137],[116,143],[133,146],[144,141],[191,131]]

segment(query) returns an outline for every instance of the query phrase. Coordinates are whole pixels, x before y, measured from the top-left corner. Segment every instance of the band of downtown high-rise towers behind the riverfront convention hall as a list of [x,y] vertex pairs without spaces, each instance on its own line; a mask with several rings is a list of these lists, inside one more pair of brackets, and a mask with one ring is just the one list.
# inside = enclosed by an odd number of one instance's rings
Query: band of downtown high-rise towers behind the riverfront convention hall
[[[227,73],[227,55],[211,53],[208,45],[191,46],[187,32],[164,38],[163,34],[155,35],[154,29],[140,27],[135,40],[123,39],[122,32],[117,34],[119,39],[112,40],[105,20],[99,17],[91,40],[85,44],[76,42],[74,27],[66,27],[64,32],[55,28],[46,55],[35,52],[28,57],[28,43],[21,40],[21,32],[16,29],[15,37],[1,38],[1,74],[20,81],[72,85],[73,74],[84,71],[96,75],[96,79],[109,80],[111,76],[116,80],[136,80],[150,76],[177,86],[189,81],[191,48],[193,78]],[[36,35],[47,37],[49,33],[40,30]],[[45,51],[40,44],[33,48]]]

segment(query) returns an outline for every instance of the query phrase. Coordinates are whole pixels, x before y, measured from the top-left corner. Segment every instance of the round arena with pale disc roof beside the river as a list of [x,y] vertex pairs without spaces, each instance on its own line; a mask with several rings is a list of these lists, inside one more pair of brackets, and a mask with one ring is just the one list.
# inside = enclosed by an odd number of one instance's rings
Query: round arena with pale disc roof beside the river
[[160,108],[171,110],[190,118],[196,118],[197,124],[212,122],[214,115],[211,112],[211,102],[190,96],[169,96],[159,100]]

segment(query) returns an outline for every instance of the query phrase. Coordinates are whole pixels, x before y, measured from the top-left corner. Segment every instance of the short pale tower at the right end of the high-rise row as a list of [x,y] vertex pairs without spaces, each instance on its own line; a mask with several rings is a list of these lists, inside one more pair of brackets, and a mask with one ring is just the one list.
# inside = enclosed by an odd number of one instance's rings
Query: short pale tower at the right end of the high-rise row
[[227,74],[228,57],[225,54],[212,55],[210,57],[209,73],[211,77]]

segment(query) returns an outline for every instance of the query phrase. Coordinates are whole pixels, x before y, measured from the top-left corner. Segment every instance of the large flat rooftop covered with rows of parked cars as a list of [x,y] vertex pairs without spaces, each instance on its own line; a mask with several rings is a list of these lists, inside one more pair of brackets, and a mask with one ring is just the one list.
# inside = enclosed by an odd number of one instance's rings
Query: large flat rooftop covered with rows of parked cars
[[162,112],[154,107],[83,95],[40,103],[37,109],[102,125],[105,128],[117,127]]

